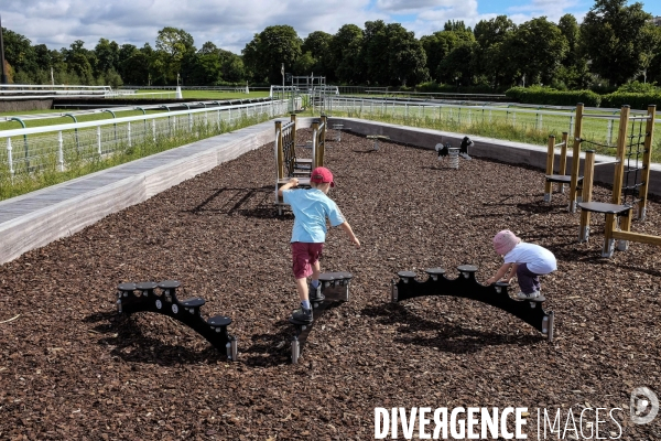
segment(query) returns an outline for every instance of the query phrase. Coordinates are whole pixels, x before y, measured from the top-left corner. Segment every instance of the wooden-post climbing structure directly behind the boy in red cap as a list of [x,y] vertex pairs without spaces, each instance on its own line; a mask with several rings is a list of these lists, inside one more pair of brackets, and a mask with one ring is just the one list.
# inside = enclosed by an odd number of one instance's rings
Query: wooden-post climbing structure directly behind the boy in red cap
[[312,158],[296,158],[296,116],[292,115],[286,123],[275,121],[275,205],[278,214],[286,204],[278,195],[278,190],[286,184],[290,179],[297,178],[300,187],[310,186],[310,173],[313,169],[324,165],[326,149],[326,116],[312,123]]

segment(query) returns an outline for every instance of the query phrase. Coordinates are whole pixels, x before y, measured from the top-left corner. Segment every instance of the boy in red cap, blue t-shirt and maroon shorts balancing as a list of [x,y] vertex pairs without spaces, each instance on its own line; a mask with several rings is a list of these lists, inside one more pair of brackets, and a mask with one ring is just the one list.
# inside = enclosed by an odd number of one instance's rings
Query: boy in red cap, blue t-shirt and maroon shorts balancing
[[[335,186],[333,173],[324,166],[317,166],[310,174],[312,189],[296,189],[299,180],[292,178],[284,184],[278,194],[285,204],[290,204],[294,212],[294,227],[292,230],[292,266],[296,279],[296,290],[301,299],[301,309],[294,311],[292,318],[302,322],[312,322],[311,301],[321,301],[322,286],[319,283],[319,257],[326,241],[326,218],[330,226],[339,226],[349,236],[356,246],[360,241],[354,230],[342,215],[342,212],[328,196],[330,187]],[[307,277],[312,276],[310,287]],[[308,291],[311,295],[308,298]]]

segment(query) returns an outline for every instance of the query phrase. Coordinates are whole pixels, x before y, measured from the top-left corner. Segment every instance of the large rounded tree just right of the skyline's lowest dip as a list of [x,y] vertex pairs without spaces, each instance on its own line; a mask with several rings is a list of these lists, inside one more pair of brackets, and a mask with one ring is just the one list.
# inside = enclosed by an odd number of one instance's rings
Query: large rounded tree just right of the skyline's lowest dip
[[256,34],[242,51],[243,63],[257,82],[282,84],[280,68],[293,68],[302,55],[301,39],[290,25],[268,26]]

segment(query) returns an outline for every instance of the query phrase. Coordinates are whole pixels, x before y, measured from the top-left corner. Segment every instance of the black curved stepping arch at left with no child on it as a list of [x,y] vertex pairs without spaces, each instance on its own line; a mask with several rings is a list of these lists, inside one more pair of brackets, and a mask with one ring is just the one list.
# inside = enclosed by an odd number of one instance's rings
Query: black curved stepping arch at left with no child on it
[[218,351],[226,351],[227,359],[236,361],[237,337],[227,333],[231,319],[226,315],[215,315],[204,320],[199,309],[205,304],[205,300],[201,298],[178,300],[176,289],[180,286],[176,280],[165,280],[160,283],[120,283],[117,287],[117,311],[127,315],[134,312],[158,312],[167,315],[192,327]]

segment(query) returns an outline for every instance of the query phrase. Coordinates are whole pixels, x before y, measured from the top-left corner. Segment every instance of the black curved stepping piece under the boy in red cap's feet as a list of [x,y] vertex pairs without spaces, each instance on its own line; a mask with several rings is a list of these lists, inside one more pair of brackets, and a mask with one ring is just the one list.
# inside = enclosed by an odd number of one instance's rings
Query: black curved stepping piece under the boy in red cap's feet
[[325,298],[321,302],[312,304],[314,309],[314,321],[312,323],[300,322],[290,318],[290,323],[294,325],[294,336],[291,338],[291,359],[293,364],[299,363],[301,351],[307,341],[307,335],[312,326],[318,321],[322,314],[338,305],[349,301],[349,284],[354,276],[350,272],[323,272],[319,275],[322,283],[322,295]]

